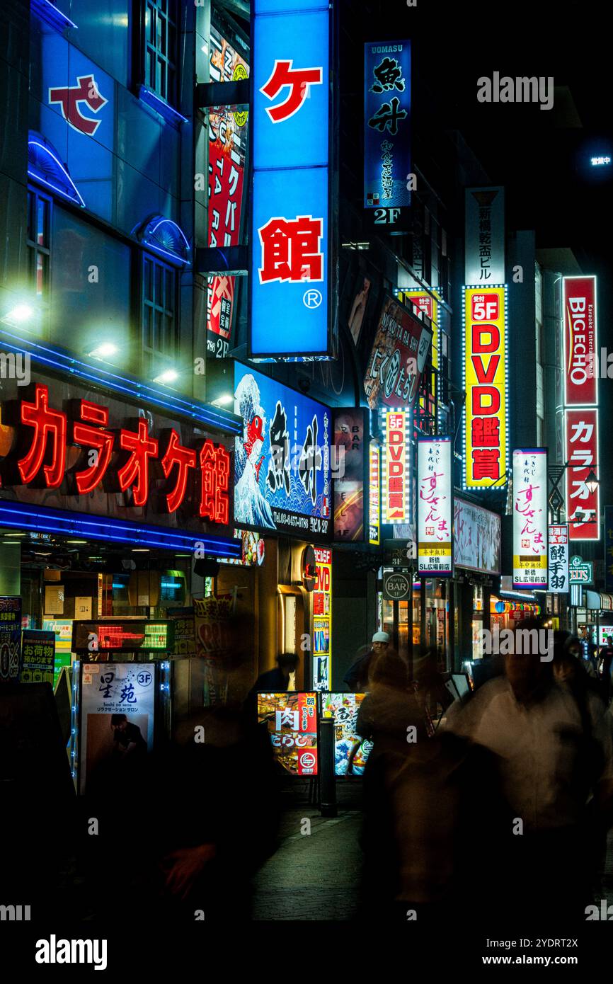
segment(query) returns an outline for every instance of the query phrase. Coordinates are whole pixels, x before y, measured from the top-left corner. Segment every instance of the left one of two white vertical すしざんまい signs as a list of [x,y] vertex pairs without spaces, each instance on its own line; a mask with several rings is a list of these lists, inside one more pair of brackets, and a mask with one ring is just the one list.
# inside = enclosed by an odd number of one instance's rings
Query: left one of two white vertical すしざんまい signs
[[419,437],[417,557],[420,575],[452,576],[452,521],[452,439]]

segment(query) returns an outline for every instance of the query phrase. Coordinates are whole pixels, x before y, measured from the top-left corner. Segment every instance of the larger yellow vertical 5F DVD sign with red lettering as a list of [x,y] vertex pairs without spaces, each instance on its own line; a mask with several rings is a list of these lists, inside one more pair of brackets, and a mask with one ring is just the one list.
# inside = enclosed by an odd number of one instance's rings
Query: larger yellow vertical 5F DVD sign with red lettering
[[507,288],[464,287],[464,487],[503,488],[507,472]]

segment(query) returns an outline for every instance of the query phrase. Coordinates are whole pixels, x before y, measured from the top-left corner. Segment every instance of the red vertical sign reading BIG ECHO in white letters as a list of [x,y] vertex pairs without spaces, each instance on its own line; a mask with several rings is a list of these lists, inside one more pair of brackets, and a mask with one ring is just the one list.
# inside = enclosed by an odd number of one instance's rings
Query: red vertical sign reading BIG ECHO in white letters
[[563,277],[564,403],[595,406],[596,277]]

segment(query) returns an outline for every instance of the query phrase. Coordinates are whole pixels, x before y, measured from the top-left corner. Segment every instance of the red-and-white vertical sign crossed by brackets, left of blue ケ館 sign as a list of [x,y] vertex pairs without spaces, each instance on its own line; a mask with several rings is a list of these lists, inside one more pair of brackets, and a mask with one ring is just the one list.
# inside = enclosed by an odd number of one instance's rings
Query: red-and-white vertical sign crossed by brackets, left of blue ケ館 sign
[[[237,42],[235,41],[235,44]],[[211,81],[247,79],[244,54],[211,26]],[[209,245],[237,246],[240,242],[248,112],[215,106],[209,110]],[[236,278],[207,277],[207,351],[227,355],[232,328]]]

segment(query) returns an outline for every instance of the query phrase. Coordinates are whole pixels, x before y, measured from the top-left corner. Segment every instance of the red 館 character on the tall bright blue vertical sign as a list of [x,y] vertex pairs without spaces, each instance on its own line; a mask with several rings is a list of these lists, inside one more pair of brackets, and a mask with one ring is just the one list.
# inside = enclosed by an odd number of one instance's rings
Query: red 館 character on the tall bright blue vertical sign
[[273,280],[322,280],[324,254],[320,240],[324,234],[324,219],[312,215],[296,218],[270,218],[258,229],[262,246],[260,283]]

